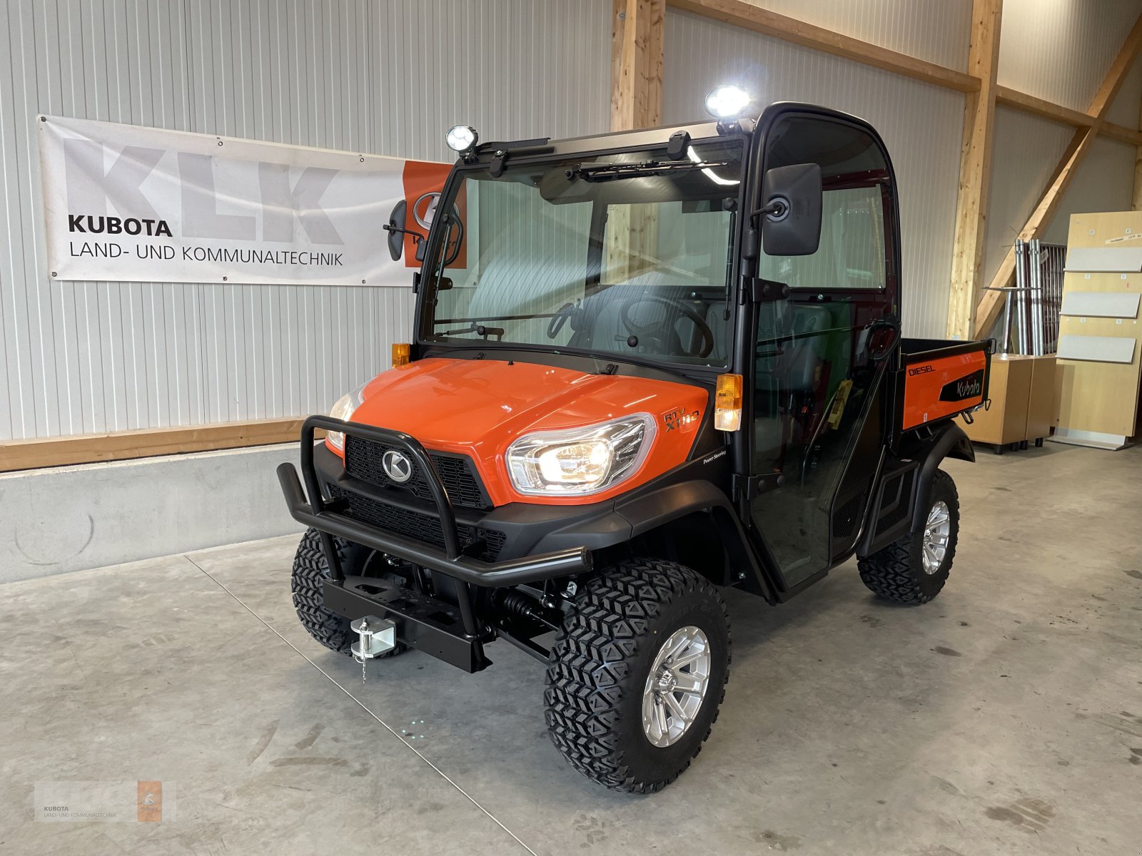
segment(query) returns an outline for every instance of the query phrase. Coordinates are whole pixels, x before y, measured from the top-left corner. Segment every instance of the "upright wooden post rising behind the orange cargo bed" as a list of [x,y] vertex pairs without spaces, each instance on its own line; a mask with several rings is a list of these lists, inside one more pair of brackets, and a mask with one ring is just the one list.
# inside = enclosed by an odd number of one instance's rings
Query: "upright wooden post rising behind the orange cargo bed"
[[964,144],[956,203],[956,241],[951,255],[948,337],[967,339],[975,316],[975,294],[983,275],[983,237],[988,188],[991,184],[991,140],[995,135],[996,73],[1003,0],[973,0],[967,71],[980,80],[964,110]]

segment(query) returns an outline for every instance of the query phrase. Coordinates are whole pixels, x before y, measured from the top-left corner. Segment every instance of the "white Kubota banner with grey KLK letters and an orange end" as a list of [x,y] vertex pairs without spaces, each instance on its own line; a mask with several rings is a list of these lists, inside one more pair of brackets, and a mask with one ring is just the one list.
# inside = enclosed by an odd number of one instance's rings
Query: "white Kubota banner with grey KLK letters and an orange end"
[[61,280],[411,285],[394,205],[424,232],[449,165],[40,116],[48,261]]

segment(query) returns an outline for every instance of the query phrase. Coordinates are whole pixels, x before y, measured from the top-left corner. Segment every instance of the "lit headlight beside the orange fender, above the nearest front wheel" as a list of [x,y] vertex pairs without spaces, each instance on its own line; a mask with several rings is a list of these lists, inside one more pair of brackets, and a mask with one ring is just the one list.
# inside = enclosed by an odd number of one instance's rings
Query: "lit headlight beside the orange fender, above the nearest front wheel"
[[507,450],[507,471],[520,493],[582,496],[634,475],[654,439],[650,413],[564,431],[537,431]]

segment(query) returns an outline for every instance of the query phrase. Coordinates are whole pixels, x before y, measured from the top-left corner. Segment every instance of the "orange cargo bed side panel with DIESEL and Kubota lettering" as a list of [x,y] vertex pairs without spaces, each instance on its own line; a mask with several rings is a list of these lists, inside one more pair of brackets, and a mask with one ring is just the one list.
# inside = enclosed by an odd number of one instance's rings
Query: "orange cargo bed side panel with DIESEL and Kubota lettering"
[[950,419],[988,397],[991,340],[904,339],[896,378],[896,430]]

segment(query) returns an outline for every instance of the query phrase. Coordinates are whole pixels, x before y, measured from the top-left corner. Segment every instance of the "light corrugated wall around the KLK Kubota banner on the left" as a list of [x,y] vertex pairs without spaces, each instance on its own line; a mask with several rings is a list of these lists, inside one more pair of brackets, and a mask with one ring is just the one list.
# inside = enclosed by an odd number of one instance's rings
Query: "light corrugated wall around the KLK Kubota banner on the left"
[[450,160],[605,130],[609,0],[3,0],[0,439],[325,411],[408,337],[407,289],[59,282],[34,119],[51,113]]

